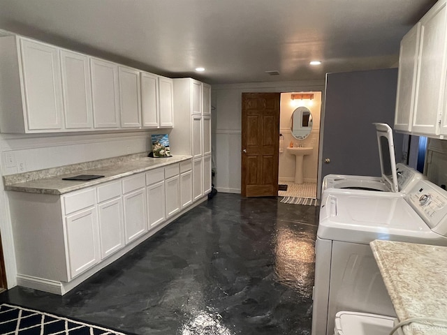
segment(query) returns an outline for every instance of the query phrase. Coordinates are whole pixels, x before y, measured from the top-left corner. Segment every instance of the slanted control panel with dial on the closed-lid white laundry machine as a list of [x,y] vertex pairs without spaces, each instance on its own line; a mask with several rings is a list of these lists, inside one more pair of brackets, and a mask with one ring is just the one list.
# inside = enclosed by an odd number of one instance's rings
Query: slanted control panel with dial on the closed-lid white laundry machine
[[447,236],[447,191],[420,180],[405,199],[434,232]]

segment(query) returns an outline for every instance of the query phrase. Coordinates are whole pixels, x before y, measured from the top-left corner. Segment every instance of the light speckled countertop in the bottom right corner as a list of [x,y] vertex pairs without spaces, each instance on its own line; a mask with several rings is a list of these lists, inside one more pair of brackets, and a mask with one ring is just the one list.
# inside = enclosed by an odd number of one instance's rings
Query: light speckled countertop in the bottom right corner
[[[446,246],[379,240],[370,246],[400,322],[447,320]],[[447,323],[439,327],[411,323],[402,329],[405,335],[447,334]]]

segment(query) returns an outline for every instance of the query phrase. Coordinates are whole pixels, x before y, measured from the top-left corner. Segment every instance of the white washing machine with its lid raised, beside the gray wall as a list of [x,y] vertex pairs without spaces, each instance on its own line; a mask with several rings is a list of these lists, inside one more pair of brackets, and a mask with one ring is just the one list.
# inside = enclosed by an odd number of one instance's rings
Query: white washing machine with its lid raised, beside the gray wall
[[[356,190],[379,192],[407,193],[414,184],[425,176],[402,163],[395,163],[395,149],[393,142],[393,130],[388,124],[374,124],[376,126],[377,143],[379,145],[379,158],[381,177],[353,176],[343,174],[328,174],[323,179],[322,199],[328,191]],[[328,190],[328,191],[326,191]]]

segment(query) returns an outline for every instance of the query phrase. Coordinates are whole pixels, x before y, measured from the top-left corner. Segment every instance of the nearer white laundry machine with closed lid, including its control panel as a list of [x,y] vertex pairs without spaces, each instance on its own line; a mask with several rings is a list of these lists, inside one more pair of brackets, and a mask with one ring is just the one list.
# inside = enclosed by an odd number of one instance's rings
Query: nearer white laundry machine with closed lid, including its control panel
[[430,181],[407,194],[328,192],[316,239],[312,335],[334,334],[339,311],[395,316],[369,242],[447,246],[446,235],[447,192]]

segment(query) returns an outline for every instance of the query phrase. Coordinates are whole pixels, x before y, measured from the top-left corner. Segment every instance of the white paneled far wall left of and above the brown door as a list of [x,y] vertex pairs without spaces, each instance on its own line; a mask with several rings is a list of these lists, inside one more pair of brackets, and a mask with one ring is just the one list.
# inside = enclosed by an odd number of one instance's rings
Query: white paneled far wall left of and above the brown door
[[324,92],[324,89],[324,80],[214,85],[212,87],[212,101],[216,112],[214,186],[217,191],[240,193],[242,93]]

